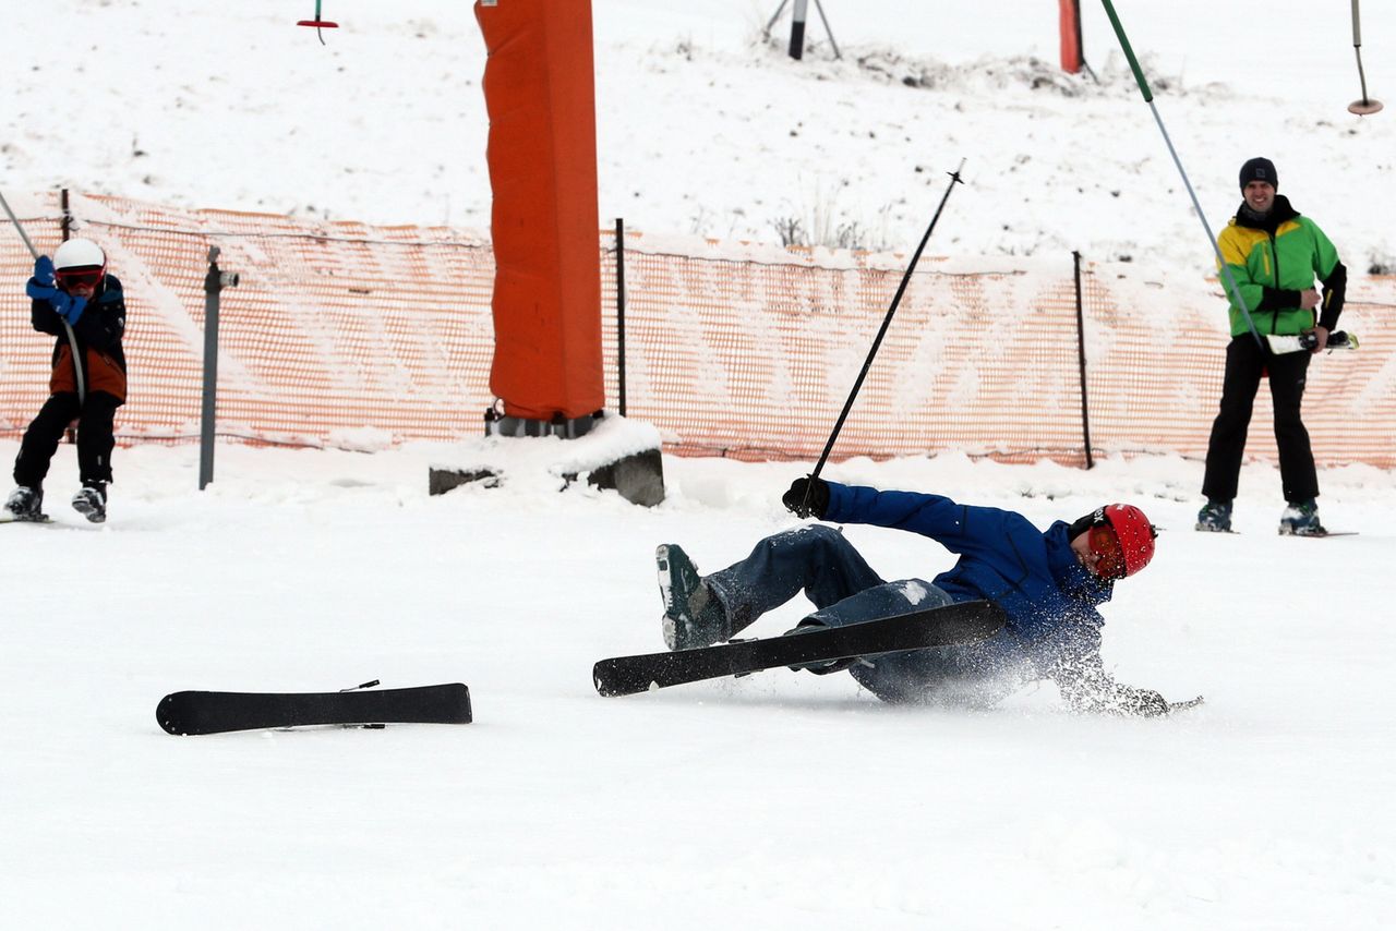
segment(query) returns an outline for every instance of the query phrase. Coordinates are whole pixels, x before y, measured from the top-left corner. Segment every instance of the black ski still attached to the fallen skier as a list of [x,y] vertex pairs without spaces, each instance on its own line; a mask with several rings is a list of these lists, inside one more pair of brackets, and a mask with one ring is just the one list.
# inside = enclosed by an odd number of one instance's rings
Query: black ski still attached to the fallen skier
[[592,667],[592,681],[602,695],[634,695],[705,678],[745,676],[778,666],[963,643],[993,635],[1004,625],[1004,620],[1002,609],[993,602],[962,602],[787,636],[603,659]]

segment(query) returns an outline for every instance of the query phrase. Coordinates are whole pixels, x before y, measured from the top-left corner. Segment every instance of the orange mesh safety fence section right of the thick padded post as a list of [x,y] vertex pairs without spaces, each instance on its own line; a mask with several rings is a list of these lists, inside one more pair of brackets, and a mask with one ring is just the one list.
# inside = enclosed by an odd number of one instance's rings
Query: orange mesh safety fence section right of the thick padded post
[[[627,413],[667,427],[684,451],[817,458],[900,281],[893,260],[905,261],[783,250],[730,261],[634,237]],[[613,279],[607,268],[602,281]],[[1325,465],[1396,466],[1393,308],[1396,282],[1358,278],[1343,325],[1362,349],[1309,370],[1305,422]],[[1092,448],[1205,455],[1227,342],[1216,282],[1087,265],[1082,310]],[[1069,255],[923,258],[833,458],[962,449],[1083,463],[1076,334]],[[1263,387],[1248,454],[1276,459]]]

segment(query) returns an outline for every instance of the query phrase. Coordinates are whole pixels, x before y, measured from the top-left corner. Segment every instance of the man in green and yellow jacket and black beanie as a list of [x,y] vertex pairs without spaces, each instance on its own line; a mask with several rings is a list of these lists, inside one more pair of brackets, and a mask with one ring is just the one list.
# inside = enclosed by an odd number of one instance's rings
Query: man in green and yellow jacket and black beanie
[[[1318,521],[1318,475],[1308,430],[1300,419],[1300,403],[1309,356],[1323,350],[1343,311],[1347,269],[1337,261],[1337,250],[1323,230],[1295,212],[1289,198],[1276,194],[1279,184],[1270,159],[1254,158],[1242,165],[1244,200],[1217,239],[1222,258],[1235,278],[1245,307],[1237,307],[1235,296],[1227,295],[1231,343],[1226,350],[1222,409],[1208,444],[1206,476],[1202,480],[1208,502],[1198,512],[1199,530],[1231,529],[1231,501],[1241,476],[1245,431],[1251,424],[1261,378],[1269,374],[1280,480],[1289,502],[1280,515],[1280,533],[1328,533]],[[1323,282],[1322,299],[1314,286],[1315,276]],[[1275,353],[1269,346],[1256,345],[1247,324],[1247,311],[1262,338],[1312,332],[1314,349]]]

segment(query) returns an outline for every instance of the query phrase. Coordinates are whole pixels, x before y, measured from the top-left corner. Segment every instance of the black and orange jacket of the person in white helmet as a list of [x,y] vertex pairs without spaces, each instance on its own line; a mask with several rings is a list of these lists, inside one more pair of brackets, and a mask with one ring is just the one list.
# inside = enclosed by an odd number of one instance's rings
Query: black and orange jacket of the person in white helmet
[[[53,348],[49,391],[77,394],[73,350],[63,329],[63,318],[53,310],[53,304],[42,297],[34,299],[29,317],[40,334],[59,338]],[[73,335],[82,355],[82,375],[88,392],[103,391],[124,402],[126,353],[121,350],[121,338],[126,335],[126,295],[116,275],[106,275],[98,285],[78,322],[73,324]]]

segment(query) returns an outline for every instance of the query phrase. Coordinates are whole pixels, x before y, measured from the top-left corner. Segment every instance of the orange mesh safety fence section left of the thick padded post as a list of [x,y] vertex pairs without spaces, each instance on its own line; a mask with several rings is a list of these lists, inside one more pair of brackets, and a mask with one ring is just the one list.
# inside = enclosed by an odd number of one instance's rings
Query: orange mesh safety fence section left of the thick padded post
[[[56,208],[27,222],[57,246]],[[314,223],[73,198],[126,289],[130,395],[117,435],[197,438],[209,246],[239,272],[221,296],[219,435],[353,445],[367,435],[448,440],[479,429],[493,353],[489,244],[456,230]],[[22,219],[22,218],[21,218]],[[22,430],[47,394],[52,338],[29,327],[31,260],[0,236],[0,429]]]

